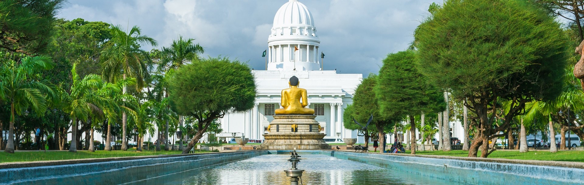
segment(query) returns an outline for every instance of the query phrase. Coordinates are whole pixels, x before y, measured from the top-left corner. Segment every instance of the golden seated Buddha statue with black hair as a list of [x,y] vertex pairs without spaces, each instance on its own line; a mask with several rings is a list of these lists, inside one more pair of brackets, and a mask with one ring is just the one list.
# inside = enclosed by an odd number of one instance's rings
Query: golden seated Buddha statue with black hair
[[[305,108],[308,105],[306,89],[298,88],[300,82],[292,76],[288,82],[290,88],[282,90],[281,104],[284,109],[276,109],[277,114],[314,114],[314,109]],[[300,102],[302,100],[302,102]]]

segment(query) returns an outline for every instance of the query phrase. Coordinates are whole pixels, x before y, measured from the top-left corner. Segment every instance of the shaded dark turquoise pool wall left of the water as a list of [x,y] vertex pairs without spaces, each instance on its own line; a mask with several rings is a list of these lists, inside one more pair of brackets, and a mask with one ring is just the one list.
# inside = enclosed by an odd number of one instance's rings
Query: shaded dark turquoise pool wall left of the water
[[0,184],[123,184],[266,155],[267,151],[0,169]]

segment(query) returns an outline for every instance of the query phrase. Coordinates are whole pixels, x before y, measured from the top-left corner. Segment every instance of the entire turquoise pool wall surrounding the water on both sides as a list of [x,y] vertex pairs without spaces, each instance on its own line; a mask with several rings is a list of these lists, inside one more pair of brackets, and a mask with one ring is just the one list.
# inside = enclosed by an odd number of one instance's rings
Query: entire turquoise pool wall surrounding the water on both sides
[[[328,155],[466,184],[584,184],[582,167],[524,165],[379,153],[318,150],[297,152],[299,155],[305,153]],[[260,155],[289,153],[290,151],[228,152],[6,168],[0,169],[0,177],[3,177],[0,178],[0,184],[123,184]]]

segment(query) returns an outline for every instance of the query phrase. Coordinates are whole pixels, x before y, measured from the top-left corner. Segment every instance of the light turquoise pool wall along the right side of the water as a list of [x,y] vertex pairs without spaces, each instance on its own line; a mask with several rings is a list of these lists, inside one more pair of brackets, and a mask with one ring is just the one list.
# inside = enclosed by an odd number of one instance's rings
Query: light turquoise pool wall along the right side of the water
[[584,184],[584,169],[515,163],[321,151],[323,155],[466,184]]

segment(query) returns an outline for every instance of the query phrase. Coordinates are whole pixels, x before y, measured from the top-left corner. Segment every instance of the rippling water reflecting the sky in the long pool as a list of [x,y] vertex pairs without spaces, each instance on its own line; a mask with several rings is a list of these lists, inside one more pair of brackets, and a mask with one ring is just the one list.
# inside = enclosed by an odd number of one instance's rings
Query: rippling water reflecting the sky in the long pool
[[[459,184],[326,155],[300,155],[302,160],[298,163],[298,169],[305,170],[302,184]],[[283,171],[290,169],[291,163],[287,159],[290,155],[262,155],[128,184],[290,184]]]

